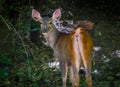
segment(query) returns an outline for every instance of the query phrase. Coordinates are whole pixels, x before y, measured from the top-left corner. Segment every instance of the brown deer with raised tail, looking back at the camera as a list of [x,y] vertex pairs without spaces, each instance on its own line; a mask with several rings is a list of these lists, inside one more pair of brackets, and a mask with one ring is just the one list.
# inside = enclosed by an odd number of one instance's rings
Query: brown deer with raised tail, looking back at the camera
[[67,27],[69,28],[66,22],[60,22],[60,9],[56,9],[51,18],[42,18],[40,13],[33,9],[32,18],[41,23],[41,31],[46,39],[46,44],[53,49],[55,57],[59,60],[63,87],[66,87],[68,70],[70,71],[72,86],[79,87],[79,70],[81,65],[84,65],[85,68],[88,87],[92,87],[91,54],[93,42],[86,30],[92,29],[93,23],[80,21],[72,28],[70,27],[72,29],[70,33],[65,33],[58,29],[63,27],[67,30]]

